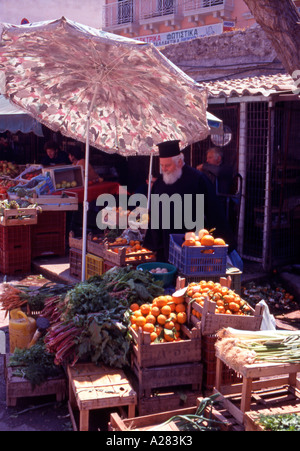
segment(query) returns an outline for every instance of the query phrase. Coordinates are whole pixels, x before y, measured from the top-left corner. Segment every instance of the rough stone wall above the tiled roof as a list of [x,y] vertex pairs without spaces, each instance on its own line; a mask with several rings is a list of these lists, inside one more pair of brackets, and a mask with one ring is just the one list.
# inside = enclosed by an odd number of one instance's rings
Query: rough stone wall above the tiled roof
[[196,81],[267,75],[283,71],[270,41],[255,25],[245,30],[160,47]]

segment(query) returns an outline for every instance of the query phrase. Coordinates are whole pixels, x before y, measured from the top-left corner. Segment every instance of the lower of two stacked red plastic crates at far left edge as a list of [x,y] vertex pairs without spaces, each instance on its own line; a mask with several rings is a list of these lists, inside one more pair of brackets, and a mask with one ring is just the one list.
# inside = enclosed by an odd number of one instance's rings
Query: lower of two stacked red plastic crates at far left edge
[[0,249],[0,272],[5,275],[17,276],[31,271],[30,247],[18,248],[14,251]]

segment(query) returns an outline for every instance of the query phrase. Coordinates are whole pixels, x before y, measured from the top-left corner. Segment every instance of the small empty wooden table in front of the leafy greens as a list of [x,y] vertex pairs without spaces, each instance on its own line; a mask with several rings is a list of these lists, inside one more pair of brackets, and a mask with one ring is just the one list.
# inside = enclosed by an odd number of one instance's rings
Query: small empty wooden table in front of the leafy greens
[[79,430],[89,430],[89,411],[128,406],[128,418],[135,416],[136,392],[125,373],[119,369],[77,364],[67,368],[69,378],[69,411],[73,428],[77,430],[73,408],[79,409]]

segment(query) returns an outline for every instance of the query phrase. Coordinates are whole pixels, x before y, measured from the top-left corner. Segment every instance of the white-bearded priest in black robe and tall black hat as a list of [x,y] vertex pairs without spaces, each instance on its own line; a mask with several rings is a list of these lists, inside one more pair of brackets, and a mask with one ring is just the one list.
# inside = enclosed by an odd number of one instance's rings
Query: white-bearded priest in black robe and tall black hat
[[[216,229],[215,236],[222,237],[229,249],[235,247],[233,233],[212,182],[205,174],[185,164],[179,142],[158,144],[160,175],[151,190],[150,220],[144,246],[155,252],[160,262],[168,261],[170,234],[198,232],[199,211],[200,216],[203,213],[202,227]],[[201,194],[203,196],[199,196]]]

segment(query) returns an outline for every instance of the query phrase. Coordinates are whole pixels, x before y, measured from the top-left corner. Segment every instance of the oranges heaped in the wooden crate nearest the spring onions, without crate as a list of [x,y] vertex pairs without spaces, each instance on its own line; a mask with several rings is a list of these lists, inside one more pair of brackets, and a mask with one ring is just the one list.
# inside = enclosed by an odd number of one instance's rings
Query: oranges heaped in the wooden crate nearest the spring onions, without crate
[[[191,282],[186,294],[189,302],[196,302],[201,307],[206,299],[216,303],[215,313],[226,315],[249,315],[251,308],[234,290],[222,286],[219,282],[205,281]],[[201,313],[193,309],[192,313],[201,318]]]

